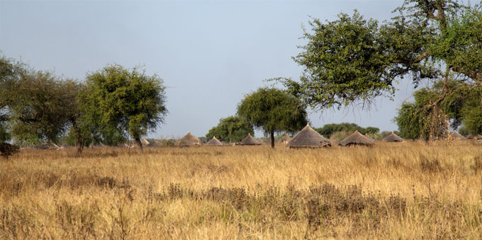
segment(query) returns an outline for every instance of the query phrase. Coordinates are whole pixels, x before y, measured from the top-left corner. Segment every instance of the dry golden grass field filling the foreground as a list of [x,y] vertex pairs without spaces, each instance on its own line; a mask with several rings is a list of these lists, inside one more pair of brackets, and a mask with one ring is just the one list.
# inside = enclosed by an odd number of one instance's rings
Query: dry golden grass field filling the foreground
[[23,150],[0,239],[482,239],[482,144]]

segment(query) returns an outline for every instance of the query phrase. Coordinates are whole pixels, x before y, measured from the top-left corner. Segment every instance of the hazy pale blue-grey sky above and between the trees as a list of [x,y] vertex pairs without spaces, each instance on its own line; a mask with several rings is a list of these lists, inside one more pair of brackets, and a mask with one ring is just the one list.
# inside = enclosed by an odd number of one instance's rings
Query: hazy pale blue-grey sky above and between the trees
[[[379,21],[403,0],[337,1],[5,1],[0,0],[0,54],[34,69],[84,81],[107,64],[142,66],[167,86],[168,115],[149,137],[201,137],[264,79],[299,79],[293,61],[303,25],[333,21],[357,10]],[[413,93],[410,79],[397,84],[393,101],[377,98],[370,109],[309,110],[314,127],[354,122],[397,130],[397,108]],[[256,132],[261,137],[262,132]]]

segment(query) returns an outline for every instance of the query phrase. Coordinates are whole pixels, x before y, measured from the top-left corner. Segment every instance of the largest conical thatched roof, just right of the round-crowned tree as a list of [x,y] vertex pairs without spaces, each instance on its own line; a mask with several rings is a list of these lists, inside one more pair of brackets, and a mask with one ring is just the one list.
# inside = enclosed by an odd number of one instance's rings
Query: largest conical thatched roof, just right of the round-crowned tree
[[326,139],[307,124],[300,132],[298,132],[286,146],[293,147],[325,147],[331,146],[330,140]]

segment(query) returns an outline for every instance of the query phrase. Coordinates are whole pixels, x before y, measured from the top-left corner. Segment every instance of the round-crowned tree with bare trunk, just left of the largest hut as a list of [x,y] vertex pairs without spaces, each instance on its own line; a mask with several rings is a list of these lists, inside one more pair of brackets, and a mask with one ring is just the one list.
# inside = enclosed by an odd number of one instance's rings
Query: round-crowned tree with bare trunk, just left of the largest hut
[[298,98],[276,88],[259,88],[237,105],[237,115],[271,136],[274,132],[296,132],[308,122],[304,105]]

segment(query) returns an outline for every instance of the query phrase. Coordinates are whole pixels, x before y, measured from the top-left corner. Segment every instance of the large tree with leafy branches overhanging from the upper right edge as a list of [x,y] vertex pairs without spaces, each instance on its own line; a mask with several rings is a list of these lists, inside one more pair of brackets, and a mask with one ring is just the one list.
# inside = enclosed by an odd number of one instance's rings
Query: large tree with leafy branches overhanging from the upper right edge
[[424,79],[441,81],[438,98],[424,108],[427,118],[447,119],[439,103],[449,81],[482,88],[482,8],[456,0],[405,0],[394,12],[398,16],[382,24],[357,11],[340,13],[336,21],[313,19],[303,36],[308,43],[293,57],[304,68],[301,79],[279,80],[318,110],[369,106],[377,96],[392,97],[404,77],[415,87]]

